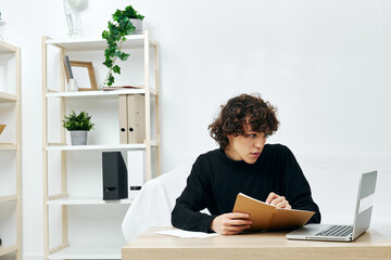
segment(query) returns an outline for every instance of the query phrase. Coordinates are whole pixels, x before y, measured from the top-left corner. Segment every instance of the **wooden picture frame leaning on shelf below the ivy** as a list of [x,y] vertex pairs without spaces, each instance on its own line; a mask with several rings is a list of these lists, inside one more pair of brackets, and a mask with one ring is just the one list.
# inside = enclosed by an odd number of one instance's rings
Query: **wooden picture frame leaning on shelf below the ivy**
[[[97,79],[91,62],[70,61],[70,65],[72,77],[70,77],[70,69],[65,67],[67,81],[70,81],[70,78],[76,79],[79,91],[98,90]],[[90,86],[90,88],[87,88],[86,86]]]

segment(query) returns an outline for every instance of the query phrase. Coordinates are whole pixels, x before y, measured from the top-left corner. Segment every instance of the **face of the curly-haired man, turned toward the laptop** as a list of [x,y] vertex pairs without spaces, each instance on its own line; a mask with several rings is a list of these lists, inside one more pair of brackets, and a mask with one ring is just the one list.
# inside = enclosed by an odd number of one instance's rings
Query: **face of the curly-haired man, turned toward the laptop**
[[229,158],[254,164],[265,146],[266,135],[263,132],[248,130],[245,136],[228,135],[228,140],[229,144],[225,153]]

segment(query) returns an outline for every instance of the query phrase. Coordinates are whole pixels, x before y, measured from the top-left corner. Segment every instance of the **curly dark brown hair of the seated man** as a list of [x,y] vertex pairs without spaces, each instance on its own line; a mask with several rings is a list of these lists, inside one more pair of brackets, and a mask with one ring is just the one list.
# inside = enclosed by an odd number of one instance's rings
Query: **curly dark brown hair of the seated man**
[[227,135],[247,136],[245,126],[255,132],[272,135],[278,129],[277,108],[258,94],[241,94],[222,105],[218,117],[207,127],[211,136],[224,150],[228,146]]

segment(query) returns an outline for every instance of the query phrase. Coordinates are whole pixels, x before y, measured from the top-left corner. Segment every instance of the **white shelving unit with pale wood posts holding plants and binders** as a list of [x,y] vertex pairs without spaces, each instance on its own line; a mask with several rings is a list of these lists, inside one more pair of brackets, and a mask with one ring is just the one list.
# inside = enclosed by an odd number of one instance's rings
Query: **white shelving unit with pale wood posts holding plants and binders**
[[[59,65],[59,80],[53,83],[49,82],[48,69],[51,65],[48,48],[58,49],[60,52],[60,65]],[[143,87],[140,89],[124,89],[115,91],[78,91],[78,92],[66,92],[65,91],[65,72],[62,66],[64,56],[75,55],[81,53],[99,53],[103,57],[103,50],[106,48],[105,40],[102,39],[64,39],[55,40],[50,39],[49,37],[42,38],[42,99],[43,99],[43,204],[45,204],[45,259],[121,259],[121,248],[124,244],[110,245],[111,238],[108,237],[108,244],[105,246],[94,246],[94,245],[77,245],[68,239],[68,230],[71,224],[68,224],[70,218],[70,207],[72,209],[77,207],[83,209],[86,207],[112,207],[113,205],[118,205],[116,207],[129,206],[133,202],[131,196],[127,199],[119,200],[103,200],[102,194],[91,194],[91,195],[79,195],[71,194],[68,192],[68,182],[73,177],[70,172],[70,168],[74,167],[70,157],[74,153],[89,155],[94,153],[100,153],[104,151],[131,151],[131,150],[142,150],[146,152],[146,161],[144,169],[147,174],[147,180],[151,179],[153,176],[160,174],[160,127],[159,127],[159,50],[157,42],[151,38],[148,31],[143,31],[142,35],[133,35],[128,36],[127,40],[123,42],[123,50],[130,49],[133,51],[140,51],[143,55]],[[150,56],[150,52],[153,52],[154,55]],[[128,62],[131,61],[131,56]],[[153,60],[153,76],[154,82],[151,83],[151,72],[150,72],[150,60]],[[102,66],[101,64],[94,64],[94,66]],[[124,69],[122,74],[125,74]],[[121,76],[116,76],[121,77]],[[89,103],[98,104],[99,102],[117,102],[118,96],[122,94],[133,95],[141,94],[144,98],[144,110],[146,110],[146,139],[143,143],[130,143],[130,144],[119,144],[118,142],[105,142],[94,143],[88,145],[70,145],[66,140],[66,131],[63,128],[60,128],[60,141],[49,140],[49,134],[51,131],[50,122],[50,113],[48,108],[51,101],[59,102],[59,115],[56,118],[64,118],[64,115],[70,113],[70,106],[76,103]],[[0,96],[1,99],[1,96]],[[151,102],[154,101],[154,102]],[[72,103],[72,104],[70,104]],[[99,103],[100,104],[100,103]],[[105,104],[105,103],[104,103]],[[84,104],[85,105],[85,104]],[[155,136],[152,136],[152,114],[154,114],[154,129]],[[112,115],[113,117],[118,117],[118,115]],[[92,118],[93,121],[93,118]],[[119,135],[118,126],[112,126],[115,128]],[[60,161],[60,170],[58,173],[58,179],[60,180],[60,192],[50,192],[51,182],[50,178],[50,154],[58,153]],[[153,157],[153,155],[155,157]],[[101,164],[101,161],[98,161]],[[153,164],[152,164],[153,162]],[[152,167],[154,165],[154,167]],[[94,166],[96,167],[96,166]],[[155,170],[155,171],[154,171]],[[153,171],[153,172],[152,172]],[[97,178],[101,178],[101,172],[97,172]],[[59,181],[58,180],[58,181]],[[96,180],[92,180],[96,181]],[[135,195],[134,193],[131,193]],[[124,205],[124,206],[121,206]],[[61,208],[61,243],[51,246],[51,222],[50,210],[52,207]],[[123,216],[124,217],[124,216]],[[102,225],[105,225],[110,220],[104,220],[96,229],[100,229]],[[121,226],[121,223],[115,223]],[[122,236],[122,234],[116,234]]]

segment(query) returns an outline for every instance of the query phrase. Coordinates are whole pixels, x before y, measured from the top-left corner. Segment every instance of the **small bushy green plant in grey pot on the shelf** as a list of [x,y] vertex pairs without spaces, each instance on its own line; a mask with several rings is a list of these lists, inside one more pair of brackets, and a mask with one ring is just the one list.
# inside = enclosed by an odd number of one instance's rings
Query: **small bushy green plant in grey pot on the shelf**
[[63,127],[71,132],[72,145],[86,145],[87,133],[92,129],[91,116],[87,112],[76,115],[74,110],[63,120]]

